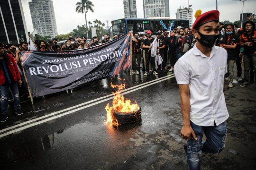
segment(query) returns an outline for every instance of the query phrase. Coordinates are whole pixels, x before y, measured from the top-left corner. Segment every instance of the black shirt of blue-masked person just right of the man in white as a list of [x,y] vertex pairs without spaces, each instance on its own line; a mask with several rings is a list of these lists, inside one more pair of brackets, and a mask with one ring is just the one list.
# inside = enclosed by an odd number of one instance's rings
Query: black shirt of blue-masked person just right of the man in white
[[235,35],[229,35],[226,34],[225,36],[222,37],[222,39],[220,39],[219,44],[223,45],[233,45],[233,44],[237,44],[237,48],[235,49],[227,49],[228,52],[228,60],[236,60],[237,56],[239,55],[239,36],[237,34]]

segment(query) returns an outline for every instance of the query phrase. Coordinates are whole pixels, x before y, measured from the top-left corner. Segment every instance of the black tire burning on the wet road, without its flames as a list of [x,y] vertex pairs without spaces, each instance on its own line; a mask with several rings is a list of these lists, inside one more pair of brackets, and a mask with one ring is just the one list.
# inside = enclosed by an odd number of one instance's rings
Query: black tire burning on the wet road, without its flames
[[141,118],[141,108],[129,112],[129,113],[119,113],[116,110],[111,110],[112,119],[117,119],[119,124],[129,124],[140,120]]

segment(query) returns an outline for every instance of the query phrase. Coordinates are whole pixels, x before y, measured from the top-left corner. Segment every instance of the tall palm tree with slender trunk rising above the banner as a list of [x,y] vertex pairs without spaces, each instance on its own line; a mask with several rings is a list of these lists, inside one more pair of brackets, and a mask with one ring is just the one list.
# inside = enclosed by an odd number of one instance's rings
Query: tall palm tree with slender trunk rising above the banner
[[86,13],[90,10],[91,12],[94,12],[92,7],[94,7],[93,3],[90,0],[80,0],[80,2],[77,2],[75,11],[77,13],[84,13],[85,16],[85,24],[87,29],[87,38],[88,38],[88,26],[87,26],[87,18]]

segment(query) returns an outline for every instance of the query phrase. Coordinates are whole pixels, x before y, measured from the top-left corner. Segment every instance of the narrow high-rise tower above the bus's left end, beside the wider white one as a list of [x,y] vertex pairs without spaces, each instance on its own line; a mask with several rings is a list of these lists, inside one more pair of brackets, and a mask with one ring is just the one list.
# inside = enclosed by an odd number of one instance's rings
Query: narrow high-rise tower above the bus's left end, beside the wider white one
[[126,18],[137,18],[136,0],[124,0],[124,12]]

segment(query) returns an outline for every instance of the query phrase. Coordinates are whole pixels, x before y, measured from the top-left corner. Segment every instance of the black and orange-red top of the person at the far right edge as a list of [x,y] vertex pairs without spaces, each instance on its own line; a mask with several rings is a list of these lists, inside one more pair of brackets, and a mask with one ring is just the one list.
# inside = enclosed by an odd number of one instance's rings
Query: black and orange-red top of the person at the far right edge
[[245,55],[253,54],[256,51],[256,30],[254,31],[253,36],[248,35],[247,33],[244,33],[241,35],[240,44],[243,44],[245,42],[252,42],[253,45],[252,46],[245,45],[244,54]]

